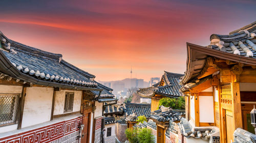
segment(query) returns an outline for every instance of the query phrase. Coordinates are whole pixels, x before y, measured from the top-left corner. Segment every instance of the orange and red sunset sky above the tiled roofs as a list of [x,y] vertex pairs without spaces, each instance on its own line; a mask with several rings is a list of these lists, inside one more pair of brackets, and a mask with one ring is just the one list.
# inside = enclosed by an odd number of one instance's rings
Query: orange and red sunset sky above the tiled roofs
[[109,81],[184,73],[186,42],[256,20],[256,1],[1,1],[0,31]]

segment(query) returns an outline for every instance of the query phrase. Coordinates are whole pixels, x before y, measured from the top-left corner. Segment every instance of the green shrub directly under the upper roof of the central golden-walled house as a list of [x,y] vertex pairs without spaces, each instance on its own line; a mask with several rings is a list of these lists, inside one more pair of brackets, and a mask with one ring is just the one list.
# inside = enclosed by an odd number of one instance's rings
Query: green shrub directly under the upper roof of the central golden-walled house
[[185,109],[184,97],[179,98],[162,98],[159,100],[159,106],[171,107],[173,109]]

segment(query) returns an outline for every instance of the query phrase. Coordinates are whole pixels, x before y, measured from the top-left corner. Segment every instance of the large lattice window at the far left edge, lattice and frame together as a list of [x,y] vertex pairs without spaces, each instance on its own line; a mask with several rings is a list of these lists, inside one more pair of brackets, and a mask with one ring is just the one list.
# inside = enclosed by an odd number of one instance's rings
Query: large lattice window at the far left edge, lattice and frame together
[[16,122],[19,94],[0,94],[0,126]]

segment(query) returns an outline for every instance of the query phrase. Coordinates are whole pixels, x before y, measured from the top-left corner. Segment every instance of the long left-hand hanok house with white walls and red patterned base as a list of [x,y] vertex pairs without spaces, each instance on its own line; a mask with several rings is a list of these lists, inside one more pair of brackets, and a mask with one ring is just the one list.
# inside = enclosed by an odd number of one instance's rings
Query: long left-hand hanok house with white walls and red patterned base
[[115,100],[112,89],[61,54],[2,33],[0,41],[0,142],[102,140],[102,102]]

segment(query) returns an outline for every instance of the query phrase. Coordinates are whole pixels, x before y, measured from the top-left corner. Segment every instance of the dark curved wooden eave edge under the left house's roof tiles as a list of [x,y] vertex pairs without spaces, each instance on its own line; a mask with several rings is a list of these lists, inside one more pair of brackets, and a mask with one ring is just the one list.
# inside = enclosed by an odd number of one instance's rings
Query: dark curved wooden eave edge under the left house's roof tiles
[[[0,67],[3,69],[4,74],[7,74],[11,77],[18,78],[27,82],[31,82],[33,84],[39,84],[39,85],[45,85],[48,87],[59,87],[59,88],[67,88],[67,89],[73,89],[73,90],[90,90],[90,91],[102,91],[102,89],[96,89],[96,88],[87,88],[87,87],[80,87],[76,85],[69,85],[69,84],[63,84],[63,83],[56,83],[56,82],[50,82],[45,80],[36,79],[34,77],[31,77],[27,74],[24,74],[20,72],[18,69],[16,69],[10,61],[6,58],[4,53],[0,50]],[[10,75],[11,74],[11,75]]]

